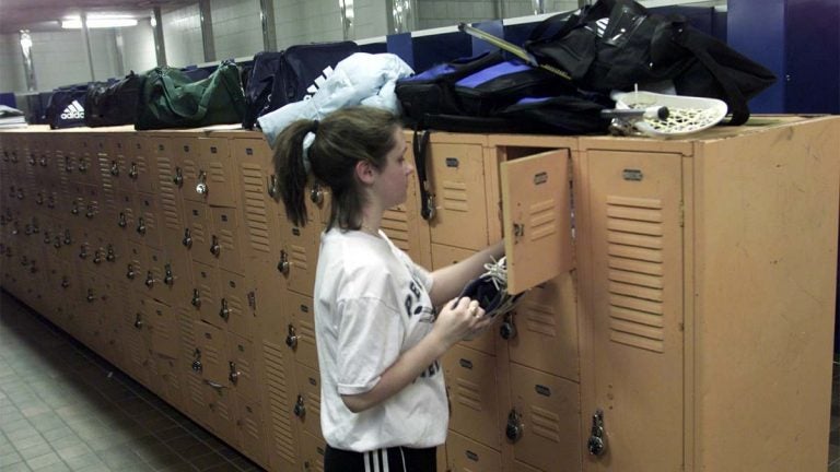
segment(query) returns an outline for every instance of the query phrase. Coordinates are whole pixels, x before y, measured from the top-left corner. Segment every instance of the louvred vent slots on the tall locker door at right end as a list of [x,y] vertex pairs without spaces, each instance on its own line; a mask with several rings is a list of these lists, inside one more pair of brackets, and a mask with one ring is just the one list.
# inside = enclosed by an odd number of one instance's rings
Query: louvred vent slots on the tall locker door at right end
[[607,197],[610,340],[665,351],[661,200]]

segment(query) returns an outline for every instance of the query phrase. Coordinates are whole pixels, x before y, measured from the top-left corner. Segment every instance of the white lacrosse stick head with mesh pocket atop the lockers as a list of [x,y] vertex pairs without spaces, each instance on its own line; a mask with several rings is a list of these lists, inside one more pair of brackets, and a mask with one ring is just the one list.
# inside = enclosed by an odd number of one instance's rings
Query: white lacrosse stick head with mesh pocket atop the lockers
[[615,134],[672,138],[718,125],[726,116],[726,104],[716,98],[665,95],[652,92],[612,94],[616,108],[603,110],[611,118]]

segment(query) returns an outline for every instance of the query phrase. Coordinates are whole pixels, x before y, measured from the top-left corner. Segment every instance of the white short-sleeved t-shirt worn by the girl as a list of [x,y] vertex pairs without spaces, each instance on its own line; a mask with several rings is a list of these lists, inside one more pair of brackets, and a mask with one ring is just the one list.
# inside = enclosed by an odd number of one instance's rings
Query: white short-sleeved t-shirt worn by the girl
[[425,448],[445,441],[448,404],[439,361],[384,402],[353,413],[340,394],[371,390],[400,353],[432,330],[432,278],[384,233],[330,229],[320,236],[315,333],[320,425],[334,448]]

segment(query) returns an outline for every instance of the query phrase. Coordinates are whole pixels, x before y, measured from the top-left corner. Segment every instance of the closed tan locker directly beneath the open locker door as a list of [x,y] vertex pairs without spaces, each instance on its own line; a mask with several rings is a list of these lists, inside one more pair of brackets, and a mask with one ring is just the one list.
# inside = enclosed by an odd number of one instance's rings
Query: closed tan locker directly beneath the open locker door
[[512,362],[580,381],[574,278],[564,273],[528,291],[512,317]]

